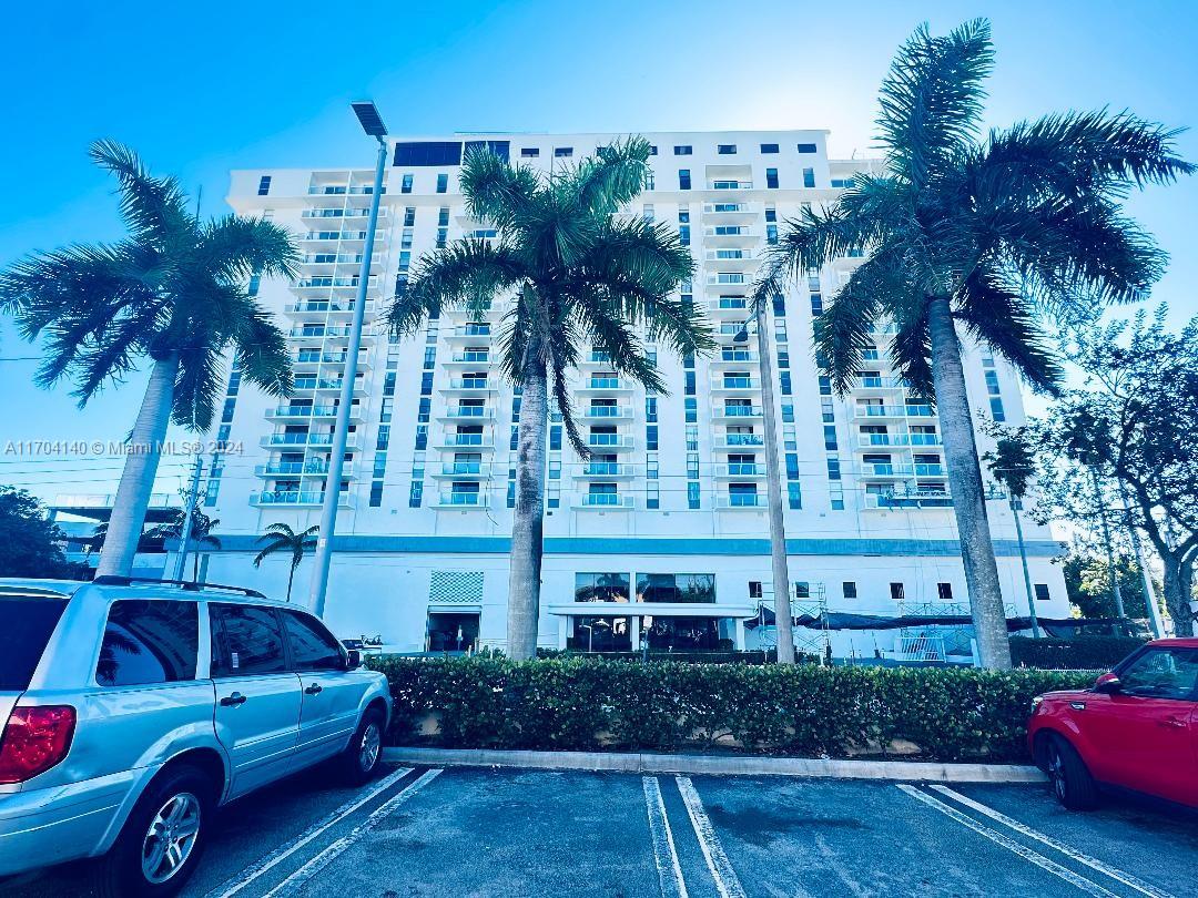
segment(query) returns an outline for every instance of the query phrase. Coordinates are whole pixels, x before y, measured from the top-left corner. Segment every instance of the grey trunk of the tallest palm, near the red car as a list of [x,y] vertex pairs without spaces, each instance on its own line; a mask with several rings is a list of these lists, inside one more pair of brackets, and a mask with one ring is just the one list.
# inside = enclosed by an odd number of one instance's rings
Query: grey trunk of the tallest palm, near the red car
[[966,569],[969,607],[982,667],[1008,671],[1011,644],[1006,633],[1006,611],[990,536],[986,497],[982,491],[978,444],[974,441],[961,344],[952,324],[946,296],[931,297],[927,307],[932,342],[932,381],[944,438],[944,461],[949,468],[952,511],[957,518],[961,560]]

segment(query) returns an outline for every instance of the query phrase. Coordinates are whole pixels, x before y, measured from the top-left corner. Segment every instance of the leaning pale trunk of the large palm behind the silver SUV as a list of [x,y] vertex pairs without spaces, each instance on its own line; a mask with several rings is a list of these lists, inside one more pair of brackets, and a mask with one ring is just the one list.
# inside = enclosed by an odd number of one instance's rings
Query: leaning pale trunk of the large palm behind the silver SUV
[[96,576],[127,577],[133,571],[133,556],[137,554],[141,528],[145,527],[150,494],[158,475],[162,443],[170,424],[177,372],[177,356],[153,363],[141,409],[129,436],[128,455],[125,456],[121,484],[116,487],[113,516],[108,523],[108,536],[99,554]]

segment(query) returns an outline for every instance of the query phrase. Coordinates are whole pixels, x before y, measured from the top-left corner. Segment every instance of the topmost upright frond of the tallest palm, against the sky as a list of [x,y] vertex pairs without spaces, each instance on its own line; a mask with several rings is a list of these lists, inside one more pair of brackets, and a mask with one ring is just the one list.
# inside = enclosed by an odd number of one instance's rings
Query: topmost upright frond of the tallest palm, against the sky
[[974,19],[944,37],[920,25],[898,49],[879,91],[877,127],[890,169],[913,184],[976,135],[994,61],[990,23]]

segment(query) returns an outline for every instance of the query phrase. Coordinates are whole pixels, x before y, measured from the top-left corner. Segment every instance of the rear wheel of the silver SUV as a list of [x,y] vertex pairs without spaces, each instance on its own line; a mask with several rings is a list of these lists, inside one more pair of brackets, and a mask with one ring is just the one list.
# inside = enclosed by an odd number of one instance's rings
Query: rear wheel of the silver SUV
[[207,841],[212,791],[208,777],[192,766],[175,767],[150,783],[99,862],[99,894],[157,898],[177,892],[195,870]]

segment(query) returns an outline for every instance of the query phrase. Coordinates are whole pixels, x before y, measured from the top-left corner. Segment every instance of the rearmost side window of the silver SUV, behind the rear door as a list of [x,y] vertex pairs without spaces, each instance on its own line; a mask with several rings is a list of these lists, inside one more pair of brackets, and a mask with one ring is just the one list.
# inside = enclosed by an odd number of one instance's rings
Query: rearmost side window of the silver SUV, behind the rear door
[[101,686],[195,679],[200,613],[195,602],[113,602],[96,663]]

